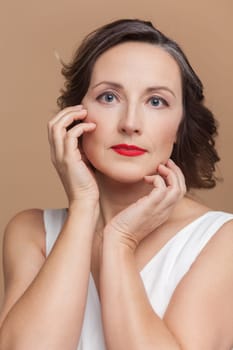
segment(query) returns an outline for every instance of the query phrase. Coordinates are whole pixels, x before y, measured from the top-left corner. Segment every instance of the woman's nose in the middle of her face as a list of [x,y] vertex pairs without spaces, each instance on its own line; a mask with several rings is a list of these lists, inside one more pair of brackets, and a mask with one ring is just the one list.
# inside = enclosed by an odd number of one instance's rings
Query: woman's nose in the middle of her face
[[130,105],[122,111],[119,121],[119,131],[127,135],[141,134],[142,116],[137,106]]

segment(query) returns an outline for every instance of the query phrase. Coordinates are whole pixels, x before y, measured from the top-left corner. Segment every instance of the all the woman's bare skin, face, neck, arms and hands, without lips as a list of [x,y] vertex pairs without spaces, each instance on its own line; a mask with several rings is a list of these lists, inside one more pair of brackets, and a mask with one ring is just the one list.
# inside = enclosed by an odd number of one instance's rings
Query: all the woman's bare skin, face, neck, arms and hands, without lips
[[[48,124],[68,198],[51,254],[46,259],[42,210],[19,213],[6,228],[0,349],[76,350],[91,271],[108,350],[229,350],[232,222],[200,253],[162,320],[139,274],[176,232],[210,210],[185,195],[183,174],[169,159],[182,116],[176,62],[150,44],[115,46],[97,60],[82,103]],[[74,120],[82,123],[67,131]],[[111,148],[119,143],[147,152],[124,157]]]

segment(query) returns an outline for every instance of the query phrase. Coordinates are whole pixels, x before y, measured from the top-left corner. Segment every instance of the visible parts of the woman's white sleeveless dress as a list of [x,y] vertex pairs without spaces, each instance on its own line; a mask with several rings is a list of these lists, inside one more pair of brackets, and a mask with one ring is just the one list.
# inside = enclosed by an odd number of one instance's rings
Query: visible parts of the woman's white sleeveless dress
[[[64,220],[66,209],[44,210],[46,253],[50,253]],[[173,236],[140,272],[151,306],[163,317],[172,294],[191,265],[221,226],[233,214],[209,211]],[[94,279],[90,273],[87,304],[77,350],[106,350],[101,308]]]

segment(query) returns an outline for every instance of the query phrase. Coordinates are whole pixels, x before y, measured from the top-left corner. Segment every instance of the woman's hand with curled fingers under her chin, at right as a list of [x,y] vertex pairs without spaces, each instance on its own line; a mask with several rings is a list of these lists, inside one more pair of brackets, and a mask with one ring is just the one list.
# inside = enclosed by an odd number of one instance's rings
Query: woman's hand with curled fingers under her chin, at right
[[105,227],[106,235],[113,235],[133,250],[169,218],[186,192],[184,176],[170,159],[166,165],[159,165],[156,175],[145,176],[145,181],[153,186],[152,191],[117,214]]

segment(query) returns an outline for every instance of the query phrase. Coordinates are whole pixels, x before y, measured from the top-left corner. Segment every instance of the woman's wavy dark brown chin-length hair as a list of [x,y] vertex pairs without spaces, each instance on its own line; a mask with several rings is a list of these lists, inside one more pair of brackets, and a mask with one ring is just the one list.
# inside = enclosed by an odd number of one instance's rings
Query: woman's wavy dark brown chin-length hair
[[90,33],[81,43],[70,64],[63,63],[65,87],[58,98],[63,109],[80,104],[85,96],[97,58],[109,48],[127,41],[160,46],[177,62],[183,89],[183,118],[171,158],[184,173],[187,188],[212,188],[216,185],[215,163],[220,160],[214,138],[217,125],[204,102],[203,85],[180,46],[151,22],[138,19],[117,20]]

